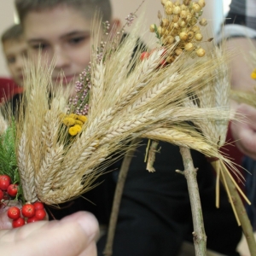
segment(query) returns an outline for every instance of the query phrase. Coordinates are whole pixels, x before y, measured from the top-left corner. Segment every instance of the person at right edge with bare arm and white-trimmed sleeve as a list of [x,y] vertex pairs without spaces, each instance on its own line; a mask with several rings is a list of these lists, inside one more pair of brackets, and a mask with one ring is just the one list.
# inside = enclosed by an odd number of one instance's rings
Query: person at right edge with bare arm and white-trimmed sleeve
[[[254,51],[255,55],[256,49],[256,1],[232,0],[221,34],[222,38],[228,38],[225,44],[233,54],[230,61],[232,89],[255,94],[256,83],[251,73],[255,68],[252,53]],[[252,202],[252,206],[247,206],[247,213],[256,230],[256,108],[235,101],[232,108],[246,118],[243,122],[233,121],[230,127],[237,148],[246,155],[243,166],[250,172],[245,172],[246,192]]]

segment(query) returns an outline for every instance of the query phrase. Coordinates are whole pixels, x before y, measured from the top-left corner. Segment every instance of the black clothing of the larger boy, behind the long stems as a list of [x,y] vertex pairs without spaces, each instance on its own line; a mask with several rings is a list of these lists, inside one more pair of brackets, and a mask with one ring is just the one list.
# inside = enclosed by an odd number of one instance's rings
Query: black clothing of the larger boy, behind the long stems
[[[143,143],[147,143],[146,140]],[[119,219],[113,244],[113,256],[170,256],[177,255],[184,240],[193,241],[193,224],[186,178],[175,170],[183,170],[179,148],[169,143],[160,143],[161,152],[156,155],[156,172],[148,173],[144,163],[146,146],[137,149],[125,183]],[[215,207],[215,177],[206,158],[192,152],[195,167],[199,168],[198,183],[201,194],[207,247],[235,256],[241,239],[241,228],[236,224],[224,189],[221,191],[221,206]],[[118,168],[121,161],[110,169]],[[118,170],[108,172],[106,179],[72,207],[63,209],[65,215],[79,210],[93,212],[101,224],[108,224],[113,201],[113,189]],[[62,211],[58,211],[59,214]],[[61,217],[61,216],[59,216]],[[98,242],[98,255],[105,247],[106,236]]]

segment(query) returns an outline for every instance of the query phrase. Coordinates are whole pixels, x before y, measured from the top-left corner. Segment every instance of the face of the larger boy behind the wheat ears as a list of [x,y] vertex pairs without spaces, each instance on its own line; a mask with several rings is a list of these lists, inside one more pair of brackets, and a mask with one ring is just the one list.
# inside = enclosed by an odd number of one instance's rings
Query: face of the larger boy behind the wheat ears
[[76,9],[63,6],[26,15],[24,33],[29,53],[38,56],[41,49],[47,60],[55,57],[53,82],[65,75],[63,85],[79,79],[90,62],[90,21]]

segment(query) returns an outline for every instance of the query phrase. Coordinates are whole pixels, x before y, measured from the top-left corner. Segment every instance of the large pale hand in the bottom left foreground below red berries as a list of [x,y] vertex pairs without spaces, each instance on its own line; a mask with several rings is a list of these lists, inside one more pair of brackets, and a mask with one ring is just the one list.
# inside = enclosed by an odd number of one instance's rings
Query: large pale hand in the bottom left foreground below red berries
[[1,255],[96,256],[98,231],[96,218],[89,212],[0,230]]

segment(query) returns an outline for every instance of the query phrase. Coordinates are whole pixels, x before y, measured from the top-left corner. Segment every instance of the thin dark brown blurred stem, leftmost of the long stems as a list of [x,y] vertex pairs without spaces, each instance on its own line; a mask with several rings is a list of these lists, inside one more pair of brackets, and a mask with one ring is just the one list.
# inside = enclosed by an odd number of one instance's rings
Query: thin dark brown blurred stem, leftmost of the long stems
[[118,215],[119,215],[120,202],[121,202],[123,190],[125,187],[125,180],[127,177],[127,173],[131,164],[133,154],[136,150],[135,145],[137,144],[137,142],[138,142],[138,139],[134,139],[131,141],[131,144],[130,144],[131,148],[125,154],[125,158],[123,160],[123,163],[119,172],[119,179],[114,192],[113,206],[112,206],[111,216],[109,220],[108,238],[107,238],[106,247],[103,252],[104,255],[106,256],[111,256],[113,253],[113,238],[114,238],[114,232],[116,229],[116,224],[117,224]]

